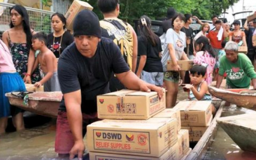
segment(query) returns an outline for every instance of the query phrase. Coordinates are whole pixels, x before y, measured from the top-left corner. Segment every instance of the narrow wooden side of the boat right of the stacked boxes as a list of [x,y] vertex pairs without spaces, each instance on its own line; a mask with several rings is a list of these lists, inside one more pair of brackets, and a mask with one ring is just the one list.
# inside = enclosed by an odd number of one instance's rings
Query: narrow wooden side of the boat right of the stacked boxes
[[213,100],[213,105],[219,105],[218,111],[204,135],[202,135],[199,142],[197,142],[196,146],[194,146],[192,151],[186,157],[186,160],[204,159],[207,148],[212,144],[213,138],[217,134],[217,119],[221,116],[225,102],[215,99]]

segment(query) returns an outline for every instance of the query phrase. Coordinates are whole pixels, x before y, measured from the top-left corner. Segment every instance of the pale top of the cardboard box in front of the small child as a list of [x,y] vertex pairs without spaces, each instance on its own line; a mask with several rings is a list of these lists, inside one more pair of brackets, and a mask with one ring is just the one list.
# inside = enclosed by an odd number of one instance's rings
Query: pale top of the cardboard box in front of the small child
[[211,105],[211,101],[182,101],[179,102],[174,108],[180,111],[206,111]]

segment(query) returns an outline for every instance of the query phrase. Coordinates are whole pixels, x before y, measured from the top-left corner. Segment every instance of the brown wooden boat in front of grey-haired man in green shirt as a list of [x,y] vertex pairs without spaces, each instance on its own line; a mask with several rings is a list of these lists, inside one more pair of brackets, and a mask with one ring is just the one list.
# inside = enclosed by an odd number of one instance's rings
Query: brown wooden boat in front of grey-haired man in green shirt
[[[225,100],[226,102],[233,103],[237,106],[242,106],[250,110],[256,110],[256,94],[252,94],[249,90],[242,91],[241,93],[231,92],[230,90],[217,89],[215,87],[208,87],[210,94]],[[240,90],[241,91],[241,90]]]

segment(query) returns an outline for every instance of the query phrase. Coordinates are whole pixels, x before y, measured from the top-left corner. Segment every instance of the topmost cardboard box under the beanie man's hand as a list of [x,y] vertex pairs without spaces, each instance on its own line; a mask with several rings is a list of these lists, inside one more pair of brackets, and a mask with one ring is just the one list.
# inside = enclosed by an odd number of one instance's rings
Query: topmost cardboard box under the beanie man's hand
[[[165,90],[164,90],[165,92]],[[149,119],[165,109],[165,93],[123,89],[97,96],[100,119]]]

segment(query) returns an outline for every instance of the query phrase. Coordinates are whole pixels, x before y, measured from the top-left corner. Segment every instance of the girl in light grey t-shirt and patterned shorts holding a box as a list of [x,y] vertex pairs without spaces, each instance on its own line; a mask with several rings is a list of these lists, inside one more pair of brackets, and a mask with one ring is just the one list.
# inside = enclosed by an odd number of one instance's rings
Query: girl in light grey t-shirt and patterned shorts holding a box
[[[185,17],[183,14],[177,14],[173,17],[171,25],[173,29],[167,30],[165,37],[166,47],[163,49],[162,65],[163,65],[163,80],[167,87],[166,107],[175,106],[178,95],[178,83],[180,80],[180,66],[177,60],[188,60],[184,47],[186,47],[186,34],[181,31],[184,26]],[[173,62],[174,71],[167,71],[167,60]]]

